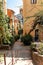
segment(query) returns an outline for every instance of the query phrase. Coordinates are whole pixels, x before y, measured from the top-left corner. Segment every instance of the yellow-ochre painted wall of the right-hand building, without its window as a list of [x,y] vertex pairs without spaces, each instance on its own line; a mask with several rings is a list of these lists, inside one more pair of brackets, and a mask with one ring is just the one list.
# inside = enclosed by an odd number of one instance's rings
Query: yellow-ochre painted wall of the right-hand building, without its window
[[[23,17],[25,20],[25,17],[33,16],[37,12],[43,10],[43,0],[37,0],[36,4],[31,4],[31,0],[23,0]],[[31,17],[27,21],[24,22],[24,34],[28,33],[30,29],[32,28],[34,18]],[[35,31],[33,31],[31,34],[34,36]]]

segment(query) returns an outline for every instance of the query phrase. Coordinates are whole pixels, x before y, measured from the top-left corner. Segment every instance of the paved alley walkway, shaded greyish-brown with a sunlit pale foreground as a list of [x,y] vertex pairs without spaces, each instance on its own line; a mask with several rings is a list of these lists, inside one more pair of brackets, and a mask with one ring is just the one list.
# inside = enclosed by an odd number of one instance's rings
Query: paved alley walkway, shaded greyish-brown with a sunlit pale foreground
[[[6,65],[34,65],[31,59],[31,51],[29,46],[23,46],[20,41],[17,41],[12,50],[1,50],[0,55],[6,55]],[[12,56],[13,55],[13,56]],[[13,59],[12,59],[13,57]],[[0,61],[0,65],[4,62]]]

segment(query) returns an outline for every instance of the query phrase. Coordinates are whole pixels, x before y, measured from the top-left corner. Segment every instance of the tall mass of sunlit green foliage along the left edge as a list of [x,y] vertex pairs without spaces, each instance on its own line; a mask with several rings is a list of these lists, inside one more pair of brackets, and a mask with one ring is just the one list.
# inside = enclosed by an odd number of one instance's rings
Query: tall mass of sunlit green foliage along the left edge
[[8,21],[9,18],[0,9],[0,44],[11,43],[10,38],[12,34],[10,33],[10,29],[8,29]]

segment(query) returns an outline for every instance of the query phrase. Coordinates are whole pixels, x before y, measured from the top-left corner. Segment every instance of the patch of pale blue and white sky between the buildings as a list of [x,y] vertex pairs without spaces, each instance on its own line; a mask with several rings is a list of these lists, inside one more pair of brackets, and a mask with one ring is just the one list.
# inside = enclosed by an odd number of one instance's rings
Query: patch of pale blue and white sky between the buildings
[[22,0],[7,0],[7,8],[15,11],[15,14],[19,13],[19,9],[22,7]]

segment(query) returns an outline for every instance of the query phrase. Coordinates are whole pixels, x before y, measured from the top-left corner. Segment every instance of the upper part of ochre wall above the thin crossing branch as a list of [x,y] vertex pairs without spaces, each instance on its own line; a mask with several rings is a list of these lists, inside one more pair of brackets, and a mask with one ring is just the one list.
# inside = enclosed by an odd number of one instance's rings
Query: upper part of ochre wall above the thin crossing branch
[[39,10],[42,10],[41,2],[43,3],[43,0],[37,0],[37,4],[31,4],[31,0],[23,0],[24,17],[34,15]]

